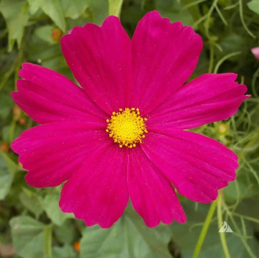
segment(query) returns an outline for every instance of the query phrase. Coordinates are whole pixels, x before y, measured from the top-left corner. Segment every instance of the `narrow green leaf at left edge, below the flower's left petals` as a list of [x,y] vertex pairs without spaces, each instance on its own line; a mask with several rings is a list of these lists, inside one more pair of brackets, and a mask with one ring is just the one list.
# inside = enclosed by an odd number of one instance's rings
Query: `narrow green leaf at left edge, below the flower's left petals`
[[[3,152],[0,154],[5,155]],[[14,179],[14,173],[10,171],[2,155],[0,155],[0,200],[5,199]]]

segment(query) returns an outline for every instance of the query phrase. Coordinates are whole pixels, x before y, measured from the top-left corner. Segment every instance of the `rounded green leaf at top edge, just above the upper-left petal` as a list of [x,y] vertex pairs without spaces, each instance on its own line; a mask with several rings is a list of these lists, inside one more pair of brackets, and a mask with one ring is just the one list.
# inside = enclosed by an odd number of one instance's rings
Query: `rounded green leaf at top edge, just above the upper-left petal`
[[61,0],[61,6],[65,17],[77,19],[88,7],[85,0]]

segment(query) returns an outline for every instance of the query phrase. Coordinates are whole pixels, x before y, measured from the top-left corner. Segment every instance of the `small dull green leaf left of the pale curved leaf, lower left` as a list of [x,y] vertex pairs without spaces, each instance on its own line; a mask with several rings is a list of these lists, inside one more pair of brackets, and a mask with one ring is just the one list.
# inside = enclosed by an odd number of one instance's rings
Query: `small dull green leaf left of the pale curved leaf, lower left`
[[22,204],[31,212],[35,214],[36,217],[40,215],[42,212],[42,207],[40,204],[39,196],[28,190],[27,188],[23,188],[22,192],[19,195],[20,201]]

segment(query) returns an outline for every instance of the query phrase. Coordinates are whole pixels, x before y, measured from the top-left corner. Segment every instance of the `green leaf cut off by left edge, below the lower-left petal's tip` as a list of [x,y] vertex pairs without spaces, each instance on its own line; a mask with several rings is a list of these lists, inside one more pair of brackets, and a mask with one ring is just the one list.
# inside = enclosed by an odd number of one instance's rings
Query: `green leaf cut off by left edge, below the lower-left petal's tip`
[[6,154],[0,154],[0,200],[4,200],[10,191],[17,166]]

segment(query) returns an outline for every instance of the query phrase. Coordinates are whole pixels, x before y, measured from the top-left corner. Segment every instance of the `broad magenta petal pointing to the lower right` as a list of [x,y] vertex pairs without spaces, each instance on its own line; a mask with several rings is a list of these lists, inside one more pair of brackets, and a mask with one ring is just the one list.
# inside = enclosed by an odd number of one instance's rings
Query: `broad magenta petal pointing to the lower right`
[[211,202],[219,189],[235,179],[237,156],[220,142],[170,127],[149,131],[142,149],[181,195],[196,202]]

